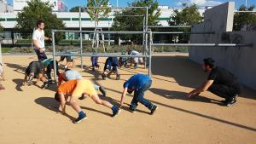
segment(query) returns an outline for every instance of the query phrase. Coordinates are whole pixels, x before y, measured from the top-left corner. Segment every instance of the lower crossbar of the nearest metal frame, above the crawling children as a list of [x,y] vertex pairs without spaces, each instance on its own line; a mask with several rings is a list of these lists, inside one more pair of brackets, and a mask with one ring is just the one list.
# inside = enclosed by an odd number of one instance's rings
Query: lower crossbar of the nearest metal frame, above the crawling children
[[61,53],[56,52],[55,56],[98,56],[98,57],[149,57],[148,55],[122,55],[121,53],[83,53],[83,54],[67,54],[67,53]]

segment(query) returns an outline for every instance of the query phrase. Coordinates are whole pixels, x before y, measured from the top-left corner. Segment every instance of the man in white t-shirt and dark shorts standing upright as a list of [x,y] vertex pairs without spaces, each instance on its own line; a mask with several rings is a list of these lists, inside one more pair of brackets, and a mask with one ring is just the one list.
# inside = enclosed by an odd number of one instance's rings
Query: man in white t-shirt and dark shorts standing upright
[[49,37],[44,37],[44,21],[38,20],[37,29],[33,32],[32,42],[35,46],[35,52],[38,55],[38,60],[45,60],[47,56],[45,55],[44,40],[50,40]]

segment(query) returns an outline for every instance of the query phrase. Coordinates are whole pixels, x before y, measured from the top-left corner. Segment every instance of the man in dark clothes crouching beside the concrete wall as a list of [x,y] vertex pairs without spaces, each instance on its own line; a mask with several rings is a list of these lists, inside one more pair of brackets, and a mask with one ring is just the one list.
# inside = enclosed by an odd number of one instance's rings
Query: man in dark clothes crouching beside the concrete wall
[[202,67],[205,72],[209,73],[207,81],[202,84],[201,88],[189,92],[188,96],[199,95],[201,92],[209,90],[213,94],[224,98],[225,101],[222,102],[225,106],[230,107],[235,104],[236,96],[241,93],[241,85],[237,78],[228,70],[214,66],[212,58],[204,59]]

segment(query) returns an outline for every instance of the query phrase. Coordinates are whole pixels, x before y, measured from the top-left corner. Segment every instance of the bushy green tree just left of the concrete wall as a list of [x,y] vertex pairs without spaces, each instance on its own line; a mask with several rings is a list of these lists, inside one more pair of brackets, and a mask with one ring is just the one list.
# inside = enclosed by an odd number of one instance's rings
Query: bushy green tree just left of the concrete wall
[[[168,23],[170,26],[191,26],[201,23],[202,20],[196,4],[189,5],[188,3],[183,3],[183,9],[175,9]],[[190,32],[191,28],[173,28],[172,31]],[[178,37],[179,41],[189,41],[189,35],[187,34],[173,34],[172,37]]]

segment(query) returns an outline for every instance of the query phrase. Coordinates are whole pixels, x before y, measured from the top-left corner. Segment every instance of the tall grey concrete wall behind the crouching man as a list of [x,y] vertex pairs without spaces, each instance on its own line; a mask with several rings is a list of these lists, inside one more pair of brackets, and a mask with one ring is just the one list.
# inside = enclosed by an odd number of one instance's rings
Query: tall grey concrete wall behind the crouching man
[[192,32],[214,31],[214,35],[191,35],[190,43],[253,43],[252,47],[191,47],[189,59],[201,63],[212,57],[217,66],[233,72],[241,84],[256,89],[256,32],[232,32],[235,3],[208,9],[204,22]]

